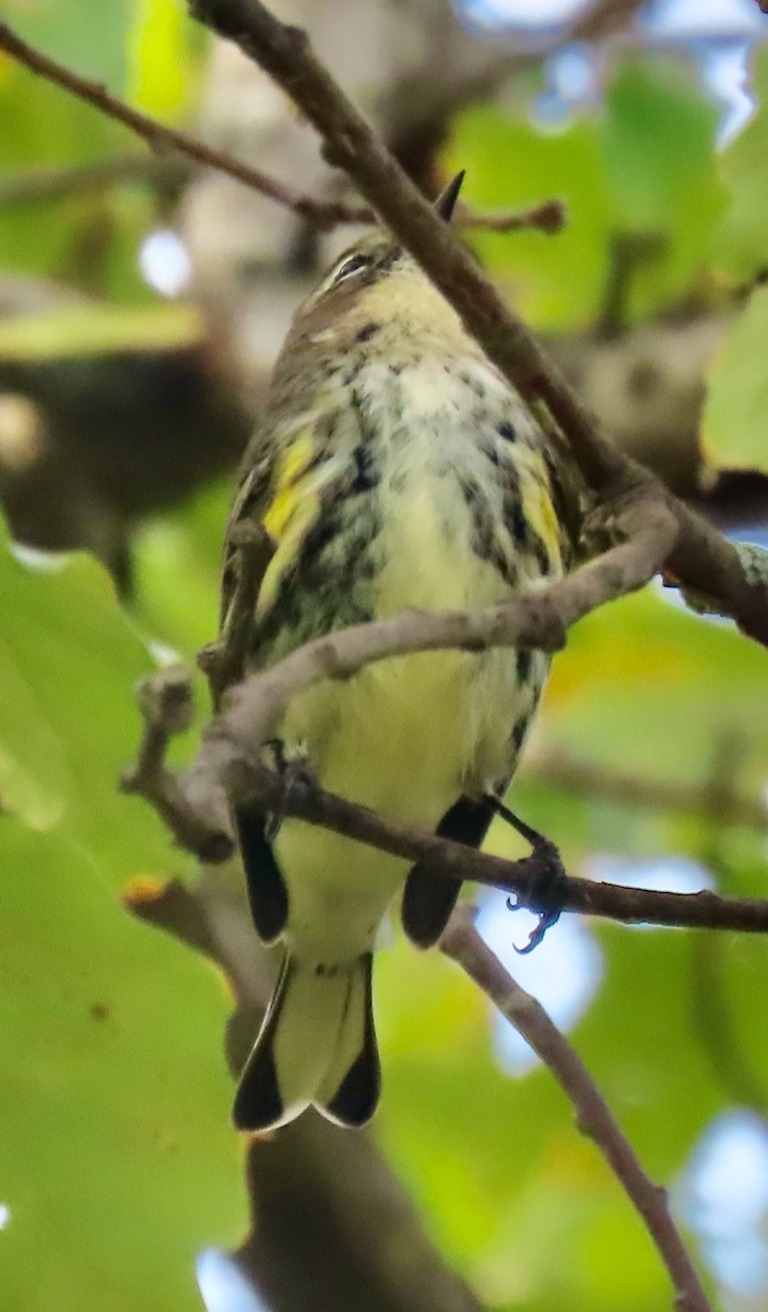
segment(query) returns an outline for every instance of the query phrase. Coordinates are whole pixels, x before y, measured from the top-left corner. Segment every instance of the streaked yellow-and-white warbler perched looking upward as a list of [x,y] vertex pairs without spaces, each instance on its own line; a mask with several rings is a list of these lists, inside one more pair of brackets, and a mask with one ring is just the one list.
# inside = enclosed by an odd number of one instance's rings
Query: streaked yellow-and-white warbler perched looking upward
[[[461,174],[440,197],[450,219]],[[364,236],[298,311],[248,447],[229,530],[275,543],[249,668],[400,611],[477,610],[570,559],[567,470],[518,394],[387,232]],[[225,550],[223,627],[236,551]],[[298,697],[279,728],[324,789],[478,845],[547,674],[541,652],[430,652]],[[259,937],[279,981],[235,1102],[242,1130],[309,1103],[360,1126],[380,1088],[371,1009],[379,925],[439,938],[459,883],[330,830],[236,816]]]

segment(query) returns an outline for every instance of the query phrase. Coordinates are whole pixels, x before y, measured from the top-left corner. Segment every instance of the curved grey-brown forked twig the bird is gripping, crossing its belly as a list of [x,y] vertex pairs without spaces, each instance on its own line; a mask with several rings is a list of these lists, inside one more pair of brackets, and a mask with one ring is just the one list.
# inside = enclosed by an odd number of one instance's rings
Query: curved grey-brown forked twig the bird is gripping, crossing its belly
[[[582,614],[611,597],[641,586],[653,573],[659,554],[668,547],[674,525],[658,508],[649,517],[634,504],[619,516],[629,530],[642,521],[636,537],[600,559],[583,565],[567,579],[536,592],[522,593],[507,605],[477,614],[405,614],[376,625],[360,625],[307,644],[263,673],[250,676],[225,699],[223,712],[207,731],[197,761],[182,778],[163,764],[163,752],[174,720],[165,715],[168,705],[161,673],[144,689],[145,739],[139,766],[131,775],[132,791],[142,792],[164,816],[177,840],[199,851],[203,842],[207,859],[219,850],[228,855],[232,837],[227,820],[227,799],[258,811],[295,816],[333,829],[347,837],[381,848],[393,855],[429,866],[435,874],[472,879],[514,892],[526,900],[541,875],[536,855],[519,862],[477,853],[460,844],[397,827],[380,820],[372,811],[333,796],[315,785],[283,779],[261,762],[261,745],[271,735],[292,697],[321,678],[349,678],[363,665],[413,651],[460,647],[481,651],[491,646],[557,647],[565,630]],[[250,622],[252,592],[258,586],[266,556],[258,534],[250,543],[250,568],[241,569],[240,619]],[[245,656],[248,627],[232,623],[219,649],[220,670],[239,670]],[[219,678],[221,674],[219,672]],[[225,686],[225,678],[219,687]],[[164,737],[159,739],[159,728]],[[157,750],[157,744],[163,750]],[[174,808],[177,815],[174,817]],[[768,929],[768,903],[727,901],[714,893],[654,893],[588,880],[567,880],[564,909],[609,916],[616,920],[675,925],[709,925],[751,932]]]

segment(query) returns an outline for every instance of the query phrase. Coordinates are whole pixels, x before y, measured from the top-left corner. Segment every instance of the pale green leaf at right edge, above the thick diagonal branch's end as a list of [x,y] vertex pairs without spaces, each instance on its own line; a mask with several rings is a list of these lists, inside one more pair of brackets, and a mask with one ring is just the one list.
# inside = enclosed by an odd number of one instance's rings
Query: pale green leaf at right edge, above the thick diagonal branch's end
[[768,474],[767,353],[768,287],[756,287],[709,371],[701,445],[714,468]]

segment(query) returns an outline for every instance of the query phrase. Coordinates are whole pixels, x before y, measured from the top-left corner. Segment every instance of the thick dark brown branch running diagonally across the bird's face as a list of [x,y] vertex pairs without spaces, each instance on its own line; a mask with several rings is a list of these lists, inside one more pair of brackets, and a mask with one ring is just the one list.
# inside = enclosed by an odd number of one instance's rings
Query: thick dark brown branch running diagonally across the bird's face
[[488,357],[533,409],[545,404],[595,491],[607,497],[646,491],[668,506],[680,530],[666,562],[668,575],[716,597],[744,632],[768,644],[768,589],[750,584],[734,547],[603,436],[595,416],[581,404],[523,320],[507,308],[456,235],[440,223],[339,91],[315,56],[307,34],[279,22],[259,0],[190,0],[190,8],[214,31],[235,41],[291,96],[322,136],[329,161],[349,173],[460,314]]

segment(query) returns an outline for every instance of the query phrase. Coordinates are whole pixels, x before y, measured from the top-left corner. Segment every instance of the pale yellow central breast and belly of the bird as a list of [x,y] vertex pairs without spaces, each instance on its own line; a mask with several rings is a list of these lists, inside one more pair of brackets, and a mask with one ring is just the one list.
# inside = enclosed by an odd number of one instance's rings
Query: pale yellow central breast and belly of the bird
[[[506,522],[509,438],[499,432],[514,400],[476,363],[425,361],[397,373],[371,363],[355,378],[370,476],[364,496],[337,509],[333,559],[343,583],[328,597],[338,607],[328,627],[343,626],[354,597],[364,597],[367,618],[385,619],[478,610],[514,590],[519,551]],[[375,531],[351,531],[360,522]],[[324,787],[434,828],[465,787],[509,770],[519,703],[509,649],[418,653],[312,689],[288,712],[286,733]]]

